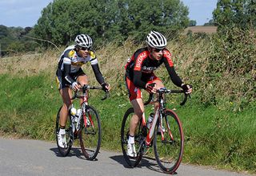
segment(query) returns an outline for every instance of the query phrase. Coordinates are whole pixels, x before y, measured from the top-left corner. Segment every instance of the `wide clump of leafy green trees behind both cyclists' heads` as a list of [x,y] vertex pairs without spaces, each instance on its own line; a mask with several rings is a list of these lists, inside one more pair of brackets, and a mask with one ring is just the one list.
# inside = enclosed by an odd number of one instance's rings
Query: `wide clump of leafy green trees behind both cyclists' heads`
[[166,33],[189,25],[179,0],[54,0],[42,10],[34,35],[67,45],[78,33],[95,41],[145,39],[150,30]]

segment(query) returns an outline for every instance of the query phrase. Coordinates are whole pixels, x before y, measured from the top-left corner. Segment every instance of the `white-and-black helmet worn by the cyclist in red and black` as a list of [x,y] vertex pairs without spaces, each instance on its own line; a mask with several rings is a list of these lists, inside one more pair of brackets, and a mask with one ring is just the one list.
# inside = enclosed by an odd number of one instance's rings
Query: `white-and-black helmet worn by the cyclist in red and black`
[[146,36],[146,43],[151,48],[155,48],[155,49],[164,49],[166,48],[166,45],[167,45],[166,37],[164,37],[162,33],[158,33],[154,30],[152,30]]

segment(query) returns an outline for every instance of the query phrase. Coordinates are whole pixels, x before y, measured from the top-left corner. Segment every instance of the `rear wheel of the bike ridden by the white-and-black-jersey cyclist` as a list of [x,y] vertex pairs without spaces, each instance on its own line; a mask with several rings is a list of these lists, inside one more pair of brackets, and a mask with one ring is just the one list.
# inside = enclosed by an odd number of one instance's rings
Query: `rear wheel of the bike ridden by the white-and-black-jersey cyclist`
[[[56,117],[56,126],[55,126],[55,136],[56,136],[56,142],[57,142],[57,146],[58,146],[58,131],[59,131],[59,112],[61,111],[62,107],[59,108],[58,110],[58,114]],[[58,151],[59,153],[65,157],[67,154],[70,153],[70,149],[73,145],[73,131],[72,131],[72,125],[71,125],[71,119],[70,119],[70,115],[68,115],[67,120],[66,120],[66,144],[67,147],[66,148],[62,148],[58,146]]]

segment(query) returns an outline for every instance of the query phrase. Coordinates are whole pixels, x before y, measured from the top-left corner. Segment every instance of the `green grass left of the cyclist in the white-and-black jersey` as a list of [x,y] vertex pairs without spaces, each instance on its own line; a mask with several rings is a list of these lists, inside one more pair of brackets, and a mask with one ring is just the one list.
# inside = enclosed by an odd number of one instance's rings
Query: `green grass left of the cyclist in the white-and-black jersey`
[[53,139],[54,113],[58,111],[58,92],[47,75],[15,78],[1,75],[1,131],[33,139]]

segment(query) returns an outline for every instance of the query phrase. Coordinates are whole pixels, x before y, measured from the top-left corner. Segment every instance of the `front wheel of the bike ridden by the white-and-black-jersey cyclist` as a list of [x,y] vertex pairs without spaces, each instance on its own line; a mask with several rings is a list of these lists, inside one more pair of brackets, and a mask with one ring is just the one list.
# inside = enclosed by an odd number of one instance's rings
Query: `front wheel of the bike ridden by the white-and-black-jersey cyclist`
[[82,115],[79,139],[84,156],[94,160],[101,146],[102,127],[98,112],[91,106],[87,106],[85,114]]

